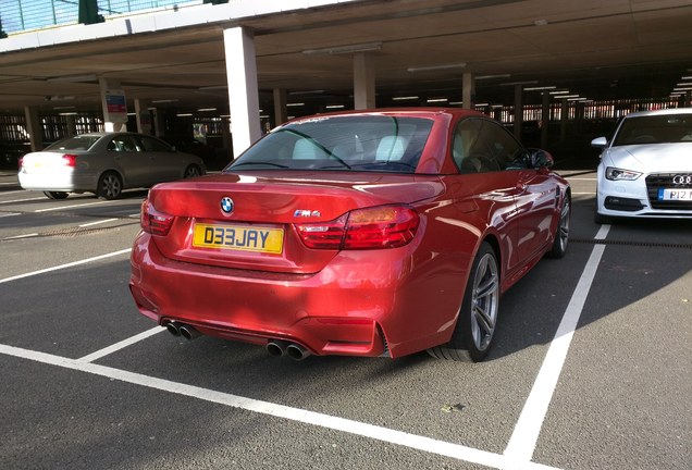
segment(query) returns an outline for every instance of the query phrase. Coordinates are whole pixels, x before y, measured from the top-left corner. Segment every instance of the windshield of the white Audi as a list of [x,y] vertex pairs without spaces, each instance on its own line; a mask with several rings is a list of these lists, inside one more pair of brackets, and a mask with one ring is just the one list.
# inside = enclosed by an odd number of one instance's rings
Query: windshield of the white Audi
[[681,141],[692,141],[692,114],[627,118],[622,121],[613,146]]

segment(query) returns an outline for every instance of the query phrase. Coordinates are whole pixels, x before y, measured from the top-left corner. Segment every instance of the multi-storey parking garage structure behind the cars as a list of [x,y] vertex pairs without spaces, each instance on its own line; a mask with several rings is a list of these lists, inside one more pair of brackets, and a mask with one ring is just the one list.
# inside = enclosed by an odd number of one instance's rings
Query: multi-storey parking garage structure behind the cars
[[124,128],[199,131],[231,159],[293,116],[420,106],[473,108],[548,148],[692,90],[685,1],[108,3],[23,29],[0,11],[3,160]]

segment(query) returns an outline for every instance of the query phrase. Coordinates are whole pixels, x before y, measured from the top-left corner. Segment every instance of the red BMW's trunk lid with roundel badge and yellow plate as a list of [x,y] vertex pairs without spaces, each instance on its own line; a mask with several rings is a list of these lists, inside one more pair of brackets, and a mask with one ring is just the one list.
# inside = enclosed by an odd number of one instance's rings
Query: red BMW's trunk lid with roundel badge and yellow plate
[[[166,258],[190,263],[316,273],[338,250],[307,248],[294,224],[333,221],[367,207],[412,205],[443,191],[436,176],[271,173],[271,177],[259,173],[209,175],[155,186],[149,202],[157,211],[175,217],[166,236],[153,236],[159,250]],[[232,200],[228,212],[222,208],[224,198]]]

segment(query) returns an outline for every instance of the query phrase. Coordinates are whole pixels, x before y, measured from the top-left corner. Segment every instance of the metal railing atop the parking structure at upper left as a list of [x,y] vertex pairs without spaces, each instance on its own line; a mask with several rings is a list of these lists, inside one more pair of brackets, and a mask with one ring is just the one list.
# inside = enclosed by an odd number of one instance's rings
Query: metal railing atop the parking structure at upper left
[[[94,2],[95,0],[91,0]],[[0,37],[46,27],[66,26],[79,22],[81,12],[89,0],[2,0],[0,1]],[[143,14],[163,10],[178,10],[217,0],[96,0],[98,13],[92,21],[108,21],[112,16]],[[97,20],[98,17],[98,20]],[[82,22],[85,22],[82,20]]]

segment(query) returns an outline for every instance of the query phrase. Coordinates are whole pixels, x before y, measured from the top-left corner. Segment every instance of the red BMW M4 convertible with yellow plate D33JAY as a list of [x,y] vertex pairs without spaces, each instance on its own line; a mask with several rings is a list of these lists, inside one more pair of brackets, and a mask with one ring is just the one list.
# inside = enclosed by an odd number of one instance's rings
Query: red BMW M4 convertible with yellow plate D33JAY
[[297,119],[221,174],[150,189],[132,295],[175,335],[275,356],[479,361],[501,295],[567,249],[552,164],[468,110]]

